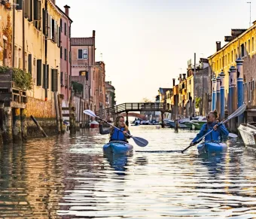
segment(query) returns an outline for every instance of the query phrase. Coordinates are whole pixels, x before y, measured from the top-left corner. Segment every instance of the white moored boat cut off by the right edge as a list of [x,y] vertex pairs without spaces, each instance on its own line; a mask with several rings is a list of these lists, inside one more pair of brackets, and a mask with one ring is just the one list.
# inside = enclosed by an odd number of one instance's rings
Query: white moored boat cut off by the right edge
[[244,123],[238,129],[245,145],[256,148],[256,123]]

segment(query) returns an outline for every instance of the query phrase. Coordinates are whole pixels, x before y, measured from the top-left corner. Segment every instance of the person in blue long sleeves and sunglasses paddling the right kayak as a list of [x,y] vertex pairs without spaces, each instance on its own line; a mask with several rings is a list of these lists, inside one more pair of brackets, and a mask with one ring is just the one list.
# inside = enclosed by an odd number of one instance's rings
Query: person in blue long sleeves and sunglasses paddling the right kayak
[[[209,133],[209,135],[206,135],[206,133],[212,129],[214,129],[214,131]],[[221,138],[227,137],[228,134],[229,132],[226,127],[219,123],[218,112],[216,110],[211,111],[207,116],[207,123],[203,124],[200,132],[197,134],[197,137],[191,141],[190,146],[193,146],[194,142],[203,135],[206,135],[205,141],[221,141]]]

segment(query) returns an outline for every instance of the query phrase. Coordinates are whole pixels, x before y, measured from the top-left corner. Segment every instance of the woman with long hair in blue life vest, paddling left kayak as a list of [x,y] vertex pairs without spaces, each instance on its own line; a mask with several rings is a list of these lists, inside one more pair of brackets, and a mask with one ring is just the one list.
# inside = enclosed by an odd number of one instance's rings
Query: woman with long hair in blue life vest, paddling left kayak
[[125,141],[125,142],[128,142],[127,138],[130,138],[130,137],[126,134],[130,135],[130,131],[129,131],[128,127],[126,126],[125,122],[124,122],[124,117],[123,116],[118,116],[114,121],[114,126],[121,129],[121,131],[119,131],[118,129],[115,129],[114,127],[103,130],[104,121],[105,120],[102,120],[102,122],[99,124],[99,133],[100,134],[102,134],[102,135],[110,134],[109,141]]

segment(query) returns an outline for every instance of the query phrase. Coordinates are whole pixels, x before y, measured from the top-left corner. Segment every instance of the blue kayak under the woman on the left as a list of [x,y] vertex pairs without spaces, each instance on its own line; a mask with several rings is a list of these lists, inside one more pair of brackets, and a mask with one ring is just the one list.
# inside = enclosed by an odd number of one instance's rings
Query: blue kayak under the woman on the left
[[126,154],[133,151],[133,145],[124,141],[110,141],[103,145],[103,151],[105,153]]

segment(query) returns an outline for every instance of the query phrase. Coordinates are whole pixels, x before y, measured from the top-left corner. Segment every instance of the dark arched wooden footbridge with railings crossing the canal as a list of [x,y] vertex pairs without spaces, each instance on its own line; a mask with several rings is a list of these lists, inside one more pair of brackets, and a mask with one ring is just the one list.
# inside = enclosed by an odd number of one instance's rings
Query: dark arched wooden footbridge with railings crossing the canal
[[100,114],[120,114],[126,111],[169,111],[169,104],[163,102],[130,102],[115,105],[112,108],[105,108],[102,111],[97,111]]

